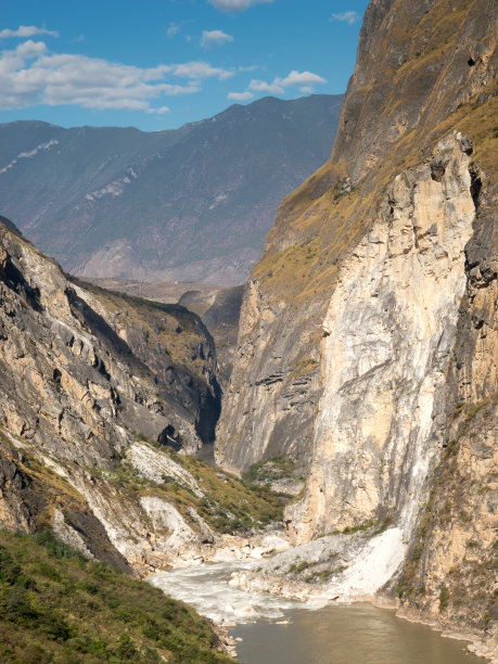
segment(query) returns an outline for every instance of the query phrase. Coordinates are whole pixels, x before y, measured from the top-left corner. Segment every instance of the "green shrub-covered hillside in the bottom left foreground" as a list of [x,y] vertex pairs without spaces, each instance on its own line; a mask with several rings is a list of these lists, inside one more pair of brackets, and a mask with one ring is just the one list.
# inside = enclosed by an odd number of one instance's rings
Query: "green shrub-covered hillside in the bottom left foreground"
[[232,662],[193,609],[87,561],[50,531],[0,531],[0,661]]

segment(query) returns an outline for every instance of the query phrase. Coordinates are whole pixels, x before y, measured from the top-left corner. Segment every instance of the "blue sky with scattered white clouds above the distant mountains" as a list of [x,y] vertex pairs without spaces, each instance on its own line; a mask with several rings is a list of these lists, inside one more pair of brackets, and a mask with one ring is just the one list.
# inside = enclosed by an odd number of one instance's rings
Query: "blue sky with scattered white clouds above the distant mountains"
[[344,92],[368,0],[17,0],[0,123],[176,128],[232,103]]

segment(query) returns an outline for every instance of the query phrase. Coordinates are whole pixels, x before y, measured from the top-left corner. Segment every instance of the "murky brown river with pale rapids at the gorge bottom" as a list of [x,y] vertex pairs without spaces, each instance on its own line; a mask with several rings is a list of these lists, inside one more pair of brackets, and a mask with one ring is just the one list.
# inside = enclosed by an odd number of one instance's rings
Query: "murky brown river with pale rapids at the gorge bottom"
[[320,605],[229,586],[230,562],[182,567],[149,577],[154,585],[218,623],[233,625],[243,664],[483,664],[463,641],[397,618],[368,603]]

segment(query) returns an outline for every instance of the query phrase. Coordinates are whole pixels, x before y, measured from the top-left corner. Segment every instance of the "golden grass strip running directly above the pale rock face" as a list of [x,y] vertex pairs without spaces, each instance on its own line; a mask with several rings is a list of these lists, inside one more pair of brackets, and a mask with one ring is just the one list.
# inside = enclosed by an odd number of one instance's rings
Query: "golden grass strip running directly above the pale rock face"
[[[333,286],[336,263],[354,246],[367,230],[379,209],[387,186],[403,170],[418,166],[431,154],[436,143],[451,131],[461,131],[474,145],[472,163],[483,173],[483,184],[496,182],[498,152],[497,81],[427,132],[421,145],[418,131],[407,131],[362,187],[342,194],[342,168],[328,162],[281,206],[279,222],[268,238],[268,248],[255,266],[252,278],[273,297],[290,304],[320,296]],[[477,98],[488,99],[478,103]],[[321,182],[330,183],[320,197],[314,200]],[[334,183],[334,184],[333,184]],[[286,217],[289,215],[289,217]],[[273,251],[285,233],[296,243]]]

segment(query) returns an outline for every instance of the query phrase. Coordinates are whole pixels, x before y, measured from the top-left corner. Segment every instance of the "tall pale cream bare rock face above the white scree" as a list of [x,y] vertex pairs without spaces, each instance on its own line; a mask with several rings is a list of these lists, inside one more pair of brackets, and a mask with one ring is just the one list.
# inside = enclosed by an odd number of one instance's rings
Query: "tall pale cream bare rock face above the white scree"
[[307,495],[288,511],[299,542],[387,516],[411,533],[442,446],[467,282],[475,207],[465,144],[451,137],[431,163],[397,176],[381,218],[341,267],[323,321]]

